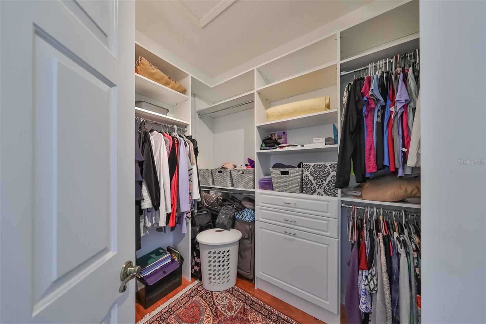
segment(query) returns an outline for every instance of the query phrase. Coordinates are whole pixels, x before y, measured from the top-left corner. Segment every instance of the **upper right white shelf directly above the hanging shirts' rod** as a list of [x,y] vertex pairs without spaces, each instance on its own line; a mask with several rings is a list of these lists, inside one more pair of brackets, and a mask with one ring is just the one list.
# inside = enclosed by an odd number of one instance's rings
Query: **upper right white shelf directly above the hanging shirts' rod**
[[378,60],[386,59],[387,57],[391,58],[397,54],[411,52],[419,48],[419,40],[419,33],[417,32],[368,49],[365,52],[341,60],[341,71],[352,71],[371,62],[376,63]]

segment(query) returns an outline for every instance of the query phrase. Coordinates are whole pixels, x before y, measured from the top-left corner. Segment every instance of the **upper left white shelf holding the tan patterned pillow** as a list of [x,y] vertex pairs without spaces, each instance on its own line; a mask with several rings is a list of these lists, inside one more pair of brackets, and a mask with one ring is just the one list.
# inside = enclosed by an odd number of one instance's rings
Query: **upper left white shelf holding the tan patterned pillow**
[[174,106],[189,97],[135,73],[135,92],[146,97]]

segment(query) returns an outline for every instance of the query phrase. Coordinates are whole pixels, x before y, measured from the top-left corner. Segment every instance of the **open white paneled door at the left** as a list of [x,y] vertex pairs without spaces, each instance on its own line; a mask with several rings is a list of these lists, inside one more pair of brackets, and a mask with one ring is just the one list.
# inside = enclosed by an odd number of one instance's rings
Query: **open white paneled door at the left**
[[0,322],[134,323],[134,3],[0,15]]

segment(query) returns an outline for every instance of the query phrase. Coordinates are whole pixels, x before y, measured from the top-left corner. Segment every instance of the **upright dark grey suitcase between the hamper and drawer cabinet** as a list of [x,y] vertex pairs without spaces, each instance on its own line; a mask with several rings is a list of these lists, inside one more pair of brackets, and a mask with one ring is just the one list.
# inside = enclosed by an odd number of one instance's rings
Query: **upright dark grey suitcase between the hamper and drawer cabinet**
[[236,219],[235,229],[242,233],[238,249],[238,273],[248,279],[255,277],[255,222]]

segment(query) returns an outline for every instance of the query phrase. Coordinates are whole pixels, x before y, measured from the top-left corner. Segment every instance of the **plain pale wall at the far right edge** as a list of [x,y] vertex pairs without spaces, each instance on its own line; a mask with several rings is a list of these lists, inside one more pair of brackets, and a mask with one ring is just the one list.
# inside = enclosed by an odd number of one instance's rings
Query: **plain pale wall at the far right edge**
[[486,323],[485,17],[420,1],[422,323]]

